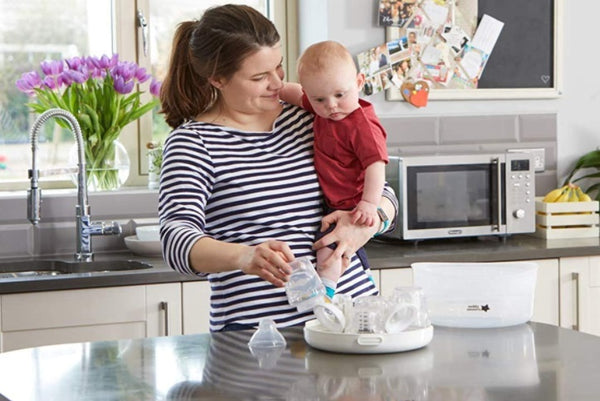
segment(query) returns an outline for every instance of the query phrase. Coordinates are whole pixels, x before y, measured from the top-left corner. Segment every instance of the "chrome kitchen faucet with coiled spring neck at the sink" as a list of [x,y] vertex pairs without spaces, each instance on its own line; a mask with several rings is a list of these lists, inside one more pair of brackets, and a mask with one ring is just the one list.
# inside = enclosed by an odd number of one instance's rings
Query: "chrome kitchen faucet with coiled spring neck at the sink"
[[87,182],[85,176],[85,153],[83,149],[83,135],[79,122],[66,110],[55,108],[42,113],[33,123],[30,130],[31,140],[31,169],[29,178],[31,187],[27,190],[27,219],[36,226],[40,222],[40,205],[42,190],[38,186],[40,171],[38,169],[37,150],[38,132],[42,125],[52,117],[63,119],[77,142],[77,205],[75,217],[77,225],[77,252],[75,259],[89,262],[93,259],[92,235],[118,235],[121,226],[113,221],[110,225],[104,222],[91,222],[90,205],[88,204]]

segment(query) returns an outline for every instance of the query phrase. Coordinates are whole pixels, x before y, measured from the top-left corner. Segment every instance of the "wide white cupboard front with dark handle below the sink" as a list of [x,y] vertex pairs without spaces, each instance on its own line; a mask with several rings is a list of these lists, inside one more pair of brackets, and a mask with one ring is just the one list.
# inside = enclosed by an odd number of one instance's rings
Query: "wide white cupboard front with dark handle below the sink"
[[181,284],[3,295],[1,350],[181,334]]

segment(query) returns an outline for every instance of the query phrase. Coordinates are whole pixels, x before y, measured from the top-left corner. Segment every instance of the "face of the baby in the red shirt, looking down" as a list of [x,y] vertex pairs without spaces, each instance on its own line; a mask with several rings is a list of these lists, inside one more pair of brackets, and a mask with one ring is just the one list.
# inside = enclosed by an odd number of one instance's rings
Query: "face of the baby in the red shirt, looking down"
[[364,77],[356,74],[354,65],[332,63],[318,71],[306,71],[300,84],[315,113],[320,117],[339,121],[359,107],[358,95]]

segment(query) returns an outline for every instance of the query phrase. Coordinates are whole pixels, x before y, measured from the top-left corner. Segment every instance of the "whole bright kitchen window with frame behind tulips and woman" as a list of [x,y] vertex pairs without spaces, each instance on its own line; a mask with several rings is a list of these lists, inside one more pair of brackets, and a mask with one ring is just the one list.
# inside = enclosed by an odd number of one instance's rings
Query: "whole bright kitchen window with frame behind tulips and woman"
[[[37,70],[44,59],[118,53],[135,61],[159,80],[164,78],[173,33],[179,21],[199,18],[207,7],[225,0],[0,0],[0,190],[25,189],[31,164],[29,127],[35,115],[15,82],[22,73]],[[238,1],[268,15],[278,27],[284,46],[290,37],[287,21],[294,0]],[[146,22],[142,29],[139,22]],[[133,21],[133,23],[132,23]],[[295,37],[295,35],[292,35]],[[146,46],[144,46],[146,43]],[[291,47],[286,46],[288,52]],[[295,49],[295,48],[294,48]],[[150,96],[150,95],[148,95]],[[146,144],[164,141],[169,127],[162,115],[148,113],[129,124],[119,140],[131,160],[126,185],[147,182]],[[72,135],[56,124],[45,124],[39,137],[40,168],[71,168]],[[42,178],[46,188],[73,187],[70,176]]]

